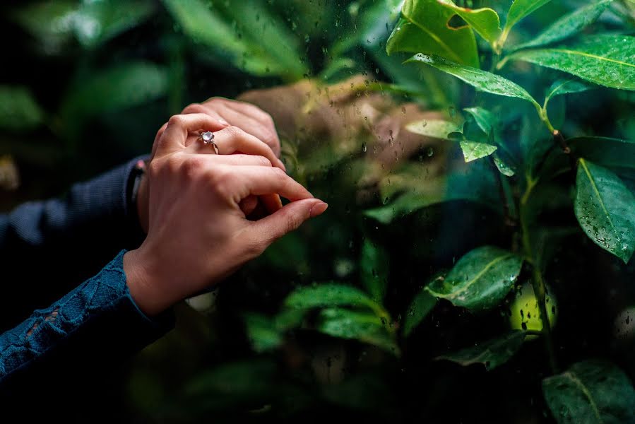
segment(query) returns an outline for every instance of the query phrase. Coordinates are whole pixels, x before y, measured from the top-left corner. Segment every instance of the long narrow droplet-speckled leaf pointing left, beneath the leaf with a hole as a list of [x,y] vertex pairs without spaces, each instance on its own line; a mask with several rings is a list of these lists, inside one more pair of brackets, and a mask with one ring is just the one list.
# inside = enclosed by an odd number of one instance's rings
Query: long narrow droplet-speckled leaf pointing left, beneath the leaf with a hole
[[527,100],[528,102],[533,103],[535,107],[540,108],[538,102],[536,102],[533,97],[527,93],[527,90],[494,73],[471,68],[470,66],[455,64],[442,57],[434,55],[428,56],[426,54],[415,54],[415,56],[408,59],[406,63],[427,64],[429,66],[434,66],[441,71],[465,81],[465,83],[470,84],[470,86],[475,87],[477,90],[485,91],[485,93]]

